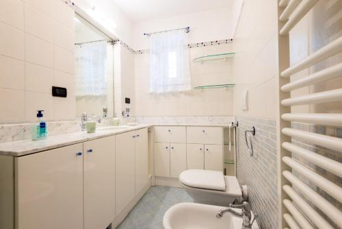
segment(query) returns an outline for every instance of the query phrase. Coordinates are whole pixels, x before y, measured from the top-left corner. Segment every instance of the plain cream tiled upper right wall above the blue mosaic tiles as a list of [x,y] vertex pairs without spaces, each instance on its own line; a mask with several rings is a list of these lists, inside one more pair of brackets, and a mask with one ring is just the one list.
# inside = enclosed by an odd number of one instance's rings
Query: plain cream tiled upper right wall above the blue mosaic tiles
[[[275,119],[278,76],[277,12],[273,0],[246,0],[233,48],[234,115]],[[249,109],[241,95],[249,91]]]

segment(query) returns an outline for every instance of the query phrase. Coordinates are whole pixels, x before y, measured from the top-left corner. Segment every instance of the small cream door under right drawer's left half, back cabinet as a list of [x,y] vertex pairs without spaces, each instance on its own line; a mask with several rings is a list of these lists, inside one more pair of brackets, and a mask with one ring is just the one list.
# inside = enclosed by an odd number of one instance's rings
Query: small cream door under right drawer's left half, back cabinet
[[205,169],[204,145],[187,144],[187,169]]

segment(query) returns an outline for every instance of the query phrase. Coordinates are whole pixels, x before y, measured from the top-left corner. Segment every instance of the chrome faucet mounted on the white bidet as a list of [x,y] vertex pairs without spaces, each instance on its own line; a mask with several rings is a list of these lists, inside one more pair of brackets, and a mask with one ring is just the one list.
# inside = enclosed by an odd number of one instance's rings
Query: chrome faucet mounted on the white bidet
[[[233,208],[242,208],[242,212],[239,213],[235,211]],[[216,215],[216,218],[221,219],[225,213],[233,213],[233,215],[237,217],[242,218],[242,228],[241,229],[250,229],[252,228],[252,225],[254,223],[254,220],[259,217],[259,215],[254,215],[254,219],[252,222],[250,222],[250,219],[252,219],[252,213],[250,204],[246,201],[242,202],[242,204],[229,204],[228,208],[222,208],[218,214]]]

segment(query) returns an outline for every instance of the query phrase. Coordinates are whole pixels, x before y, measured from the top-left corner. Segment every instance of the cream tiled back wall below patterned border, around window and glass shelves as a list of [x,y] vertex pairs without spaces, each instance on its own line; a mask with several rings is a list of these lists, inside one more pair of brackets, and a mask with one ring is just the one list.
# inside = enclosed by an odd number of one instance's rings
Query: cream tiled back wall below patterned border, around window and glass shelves
[[[189,49],[192,87],[233,82],[232,60],[193,62],[194,58],[232,51],[231,44]],[[194,90],[185,93],[153,95],[148,93],[148,53],[135,55],[136,116],[231,116],[233,88]]]

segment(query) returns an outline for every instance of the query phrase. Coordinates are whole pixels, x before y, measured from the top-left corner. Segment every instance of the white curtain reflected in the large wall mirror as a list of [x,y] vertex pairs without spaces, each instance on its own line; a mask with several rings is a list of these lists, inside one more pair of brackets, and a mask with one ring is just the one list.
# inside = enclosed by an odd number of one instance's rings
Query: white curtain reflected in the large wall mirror
[[107,42],[76,45],[76,96],[106,95]]

